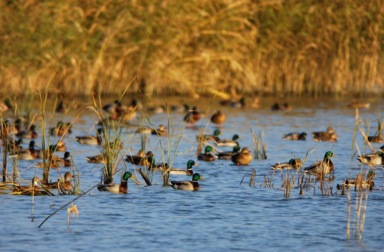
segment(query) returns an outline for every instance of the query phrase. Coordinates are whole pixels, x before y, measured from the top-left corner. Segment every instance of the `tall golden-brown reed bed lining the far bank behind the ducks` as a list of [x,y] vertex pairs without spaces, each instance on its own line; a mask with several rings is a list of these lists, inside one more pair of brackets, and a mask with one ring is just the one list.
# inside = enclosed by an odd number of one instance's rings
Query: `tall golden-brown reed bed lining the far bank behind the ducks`
[[[0,92],[382,94],[377,0],[0,0]],[[155,89],[156,87],[156,89]]]

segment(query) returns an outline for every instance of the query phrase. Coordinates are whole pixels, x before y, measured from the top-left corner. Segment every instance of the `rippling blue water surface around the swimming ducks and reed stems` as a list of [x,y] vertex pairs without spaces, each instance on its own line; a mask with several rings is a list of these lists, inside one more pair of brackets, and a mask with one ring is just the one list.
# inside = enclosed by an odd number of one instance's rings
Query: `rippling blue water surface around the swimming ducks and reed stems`
[[[159,99],[157,102],[164,101]],[[213,108],[218,108],[216,103],[212,106],[204,101],[195,103],[201,110],[210,108],[210,113]],[[206,179],[199,181],[200,191],[178,191],[163,187],[162,180],[153,186],[146,186],[144,182],[137,186],[129,181],[128,193],[125,195],[93,189],[89,192],[90,195],[80,197],[74,202],[79,209],[79,216],[78,219],[72,219],[69,229],[67,207],[48,219],[41,228],[38,228],[38,225],[49,214],[76,196],[35,196],[34,219],[31,221],[32,197],[0,194],[0,251],[381,251],[384,247],[383,169],[376,167],[375,171],[378,175],[375,177],[375,188],[380,188],[368,194],[362,241],[346,239],[347,195],[322,197],[320,189],[316,186],[315,195],[313,188],[305,195],[298,195],[299,189],[293,188],[287,199],[283,197],[283,189],[279,191],[283,183],[280,171],[276,171],[273,177],[273,188],[260,187],[264,176],[271,176],[272,170],[269,166],[278,161],[288,161],[292,152],[296,158],[302,159],[308,150],[317,148],[308,156],[307,165],[323,158],[324,153],[332,149],[333,143],[314,142],[310,133],[323,131],[328,126],[332,126],[340,136],[333,149],[334,154],[338,156],[332,158],[335,166],[335,184],[330,182],[330,186],[333,187],[333,192],[336,191],[336,184],[344,177],[348,178],[350,174],[356,176],[361,166],[356,158],[350,162],[354,109],[347,108],[343,101],[321,99],[303,99],[293,103],[291,112],[271,112],[271,104],[267,101],[262,104],[260,109],[220,108],[227,114],[221,137],[232,138],[233,134],[238,133],[242,138],[239,140],[241,147],[253,150],[250,129],[255,129],[256,132],[259,129],[265,131],[268,159],[253,160],[250,165],[239,167],[231,161],[197,161],[195,136],[199,131],[185,129],[185,136],[180,141],[173,166],[185,169],[187,161],[194,159],[199,164],[194,166],[194,172],[199,172]],[[377,101],[370,109],[360,111],[362,119],[371,119],[371,132],[376,130],[373,126],[377,125],[379,109],[382,110]],[[73,118],[74,114],[75,111],[67,115],[65,121]],[[170,114],[170,125],[171,128],[174,127],[174,134],[181,133],[183,116],[184,114],[180,113]],[[55,115],[54,124],[59,118],[60,116]],[[166,114],[149,114],[149,118],[156,125],[167,125]],[[142,120],[141,115],[139,119]],[[208,119],[209,117],[202,118],[198,126],[204,129]],[[78,144],[74,136],[84,135],[83,130],[95,134],[93,121],[89,112],[85,112],[75,125],[73,134],[64,139],[81,171],[80,189],[84,191],[100,182],[101,165],[96,167],[97,164],[89,164],[84,158],[98,154],[99,149],[98,146]],[[209,124],[207,133],[211,133],[213,129],[214,125]],[[284,133],[293,131],[307,132],[307,140],[281,140]],[[167,144],[167,139],[163,140]],[[41,145],[40,140],[36,143]],[[357,143],[363,151],[360,133]],[[136,134],[127,144],[127,148],[136,153],[140,144],[140,135]],[[380,145],[373,144],[376,149]],[[227,151],[232,148],[220,149]],[[149,137],[147,150],[153,151],[159,161],[161,149],[157,136]],[[367,153],[370,152],[368,149]],[[20,161],[19,171],[22,179],[30,181],[34,176],[33,164],[35,161]],[[127,166],[130,171],[138,168],[132,164]],[[364,167],[364,171],[366,168]],[[248,186],[249,173],[240,186],[245,172],[252,169],[256,169],[255,187]],[[65,168],[61,168],[62,173],[65,171]],[[40,177],[41,172],[41,169],[37,171]],[[285,175],[286,171],[283,171],[283,176]],[[58,171],[51,169],[50,178],[55,181],[57,176]],[[161,173],[156,173],[152,182],[156,182],[160,176]],[[171,179],[191,180],[191,177],[173,175]],[[115,182],[119,180],[120,176],[115,176]],[[356,196],[361,193],[365,195],[365,191],[350,192],[352,226]],[[53,204],[55,205],[51,206]],[[351,229],[351,236],[354,237],[354,227]]]

